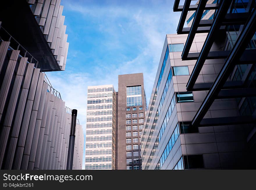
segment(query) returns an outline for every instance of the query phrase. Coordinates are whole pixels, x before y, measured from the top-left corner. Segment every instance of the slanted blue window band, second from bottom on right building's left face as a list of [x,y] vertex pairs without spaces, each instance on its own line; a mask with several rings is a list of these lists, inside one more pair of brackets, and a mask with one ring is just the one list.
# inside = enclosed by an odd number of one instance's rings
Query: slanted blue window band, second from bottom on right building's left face
[[167,156],[169,155],[170,151],[172,150],[178,137],[179,137],[179,124],[177,124],[177,126],[175,127],[173,134],[171,135],[169,142],[167,143],[167,145],[162,153],[162,156],[159,160],[160,168],[162,167],[164,161],[166,160]]

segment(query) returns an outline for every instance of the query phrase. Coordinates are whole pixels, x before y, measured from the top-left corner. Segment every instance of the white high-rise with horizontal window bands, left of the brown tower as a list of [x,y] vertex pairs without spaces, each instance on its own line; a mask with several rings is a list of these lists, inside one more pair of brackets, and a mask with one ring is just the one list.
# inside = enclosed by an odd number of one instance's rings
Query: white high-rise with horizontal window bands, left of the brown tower
[[85,169],[114,169],[115,112],[113,85],[88,86]]

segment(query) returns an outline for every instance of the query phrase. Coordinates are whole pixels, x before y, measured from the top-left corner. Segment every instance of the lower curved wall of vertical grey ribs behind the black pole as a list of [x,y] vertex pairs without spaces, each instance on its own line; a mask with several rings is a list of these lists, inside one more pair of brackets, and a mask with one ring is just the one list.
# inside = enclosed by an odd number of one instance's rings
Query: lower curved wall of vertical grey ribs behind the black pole
[[[45,74],[0,41],[0,168],[66,169],[71,114],[49,91]],[[82,168],[77,124],[73,169]]]

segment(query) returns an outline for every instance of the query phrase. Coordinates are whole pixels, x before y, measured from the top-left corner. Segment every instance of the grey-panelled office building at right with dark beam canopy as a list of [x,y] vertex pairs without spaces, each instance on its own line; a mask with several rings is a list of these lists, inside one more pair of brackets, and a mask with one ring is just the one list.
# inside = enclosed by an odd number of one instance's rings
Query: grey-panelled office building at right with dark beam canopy
[[174,2],[182,14],[163,46],[142,169],[255,169],[255,1],[190,3]]

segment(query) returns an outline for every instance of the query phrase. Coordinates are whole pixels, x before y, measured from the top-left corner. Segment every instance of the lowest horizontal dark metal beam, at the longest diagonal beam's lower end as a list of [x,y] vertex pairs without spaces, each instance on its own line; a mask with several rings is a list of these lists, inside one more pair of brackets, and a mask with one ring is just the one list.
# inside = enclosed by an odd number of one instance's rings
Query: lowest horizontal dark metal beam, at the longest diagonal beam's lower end
[[216,117],[202,119],[199,127],[255,123],[253,116]]

